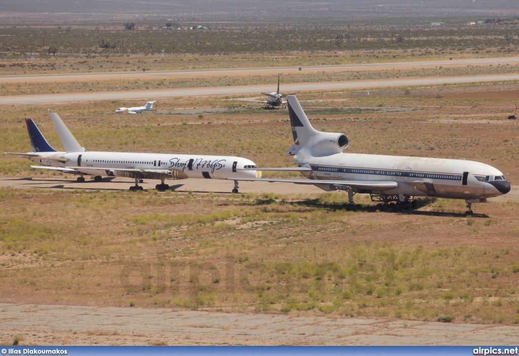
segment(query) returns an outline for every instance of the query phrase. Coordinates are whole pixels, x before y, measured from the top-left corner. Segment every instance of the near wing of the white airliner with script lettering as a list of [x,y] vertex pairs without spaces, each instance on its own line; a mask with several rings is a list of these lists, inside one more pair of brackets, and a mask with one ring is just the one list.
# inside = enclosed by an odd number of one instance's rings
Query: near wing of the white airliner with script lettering
[[179,169],[153,169],[153,168],[96,168],[96,167],[49,167],[31,166],[32,168],[42,168],[59,170],[67,173],[83,173],[86,170],[104,170],[107,176],[119,176],[128,178],[147,178],[147,179],[187,179],[187,175]]

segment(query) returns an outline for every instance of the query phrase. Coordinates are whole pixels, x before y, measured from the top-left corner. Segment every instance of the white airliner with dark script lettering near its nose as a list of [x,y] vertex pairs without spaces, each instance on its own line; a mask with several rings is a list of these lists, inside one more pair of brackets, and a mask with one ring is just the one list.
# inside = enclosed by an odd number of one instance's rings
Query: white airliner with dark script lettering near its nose
[[[163,154],[133,152],[87,152],[81,147],[72,133],[55,112],[50,118],[56,126],[64,152],[53,149],[32,119],[25,119],[31,139],[33,152],[9,153],[30,159],[39,166],[33,168],[52,169],[64,173],[78,174],[78,182],[84,182],[83,175],[95,175],[94,180],[103,177],[128,177],[135,180],[130,190],[142,190],[142,179],[160,179],[155,188],[163,191],[169,189],[165,179],[261,177],[260,171],[251,170],[254,162],[241,157],[209,156],[196,154]],[[239,170],[247,168],[248,170]],[[234,182],[233,193],[238,193],[238,181]]]

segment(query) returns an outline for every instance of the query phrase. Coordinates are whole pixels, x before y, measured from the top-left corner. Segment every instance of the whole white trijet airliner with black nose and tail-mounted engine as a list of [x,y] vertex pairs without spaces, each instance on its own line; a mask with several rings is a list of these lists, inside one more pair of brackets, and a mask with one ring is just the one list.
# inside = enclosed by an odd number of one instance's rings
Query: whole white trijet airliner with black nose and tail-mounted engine
[[510,191],[510,183],[498,169],[480,162],[343,153],[349,144],[345,134],[313,129],[297,98],[289,95],[287,99],[294,145],[285,155],[293,155],[299,167],[292,170],[301,170],[309,179],[237,180],[313,184],[325,191],[345,190],[350,203],[354,194],[370,194],[372,201],[384,204],[379,203],[380,209],[391,210],[415,205],[412,204],[415,196],[463,199],[468,214],[472,213],[472,203],[483,203],[487,198]]

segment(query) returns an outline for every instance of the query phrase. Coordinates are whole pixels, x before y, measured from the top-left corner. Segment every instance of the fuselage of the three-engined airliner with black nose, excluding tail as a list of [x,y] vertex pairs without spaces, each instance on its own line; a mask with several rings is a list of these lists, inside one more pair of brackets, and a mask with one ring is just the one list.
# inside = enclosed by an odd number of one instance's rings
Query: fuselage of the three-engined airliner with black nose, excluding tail
[[323,157],[295,155],[294,162],[308,164],[312,172],[305,176],[323,180],[319,187],[324,190],[333,190],[333,180],[388,180],[397,181],[398,188],[359,193],[484,200],[510,191],[510,183],[498,169],[474,161],[337,153]]

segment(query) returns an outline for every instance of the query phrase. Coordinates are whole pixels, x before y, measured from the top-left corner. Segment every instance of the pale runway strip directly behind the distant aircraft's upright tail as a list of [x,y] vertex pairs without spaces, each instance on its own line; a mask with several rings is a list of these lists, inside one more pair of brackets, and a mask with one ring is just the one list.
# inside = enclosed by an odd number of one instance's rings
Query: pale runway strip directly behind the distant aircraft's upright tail
[[[359,80],[342,82],[318,82],[318,83],[291,83],[283,84],[286,92],[297,91],[319,91],[319,90],[347,90],[347,89],[371,89],[388,87],[414,87],[431,86],[439,84],[473,83],[489,81],[519,80],[519,74],[502,74],[487,76],[466,77],[433,77],[433,78],[402,78],[384,80]],[[259,94],[272,90],[272,84],[256,86],[233,86],[233,87],[203,87],[203,88],[181,88],[161,90],[138,90],[120,92],[96,92],[75,94],[38,94],[38,95],[11,95],[0,97],[0,105],[12,104],[42,104],[60,102],[80,101],[102,101],[119,99],[157,99],[160,97],[175,96],[200,96],[200,95],[243,95]]]

